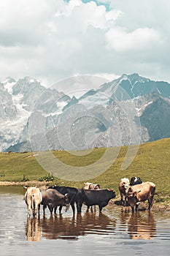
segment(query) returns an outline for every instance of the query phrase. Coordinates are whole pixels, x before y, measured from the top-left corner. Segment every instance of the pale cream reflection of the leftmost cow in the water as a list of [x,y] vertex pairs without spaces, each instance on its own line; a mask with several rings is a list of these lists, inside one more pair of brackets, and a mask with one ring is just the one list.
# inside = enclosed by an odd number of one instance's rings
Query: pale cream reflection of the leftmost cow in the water
[[39,225],[39,220],[36,218],[27,218],[26,237],[28,241],[40,241],[42,232]]

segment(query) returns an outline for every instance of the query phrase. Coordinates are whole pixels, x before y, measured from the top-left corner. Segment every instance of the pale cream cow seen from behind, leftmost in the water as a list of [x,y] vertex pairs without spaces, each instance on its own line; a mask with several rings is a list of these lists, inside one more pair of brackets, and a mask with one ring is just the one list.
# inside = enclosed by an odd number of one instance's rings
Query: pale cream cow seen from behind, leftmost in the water
[[24,187],[26,193],[24,199],[27,205],[28,216],[31,215],[31,209],[33,216],[36,217],[37,212],[39,213],[40,203],[42,203],[42,194],[37,187]]

